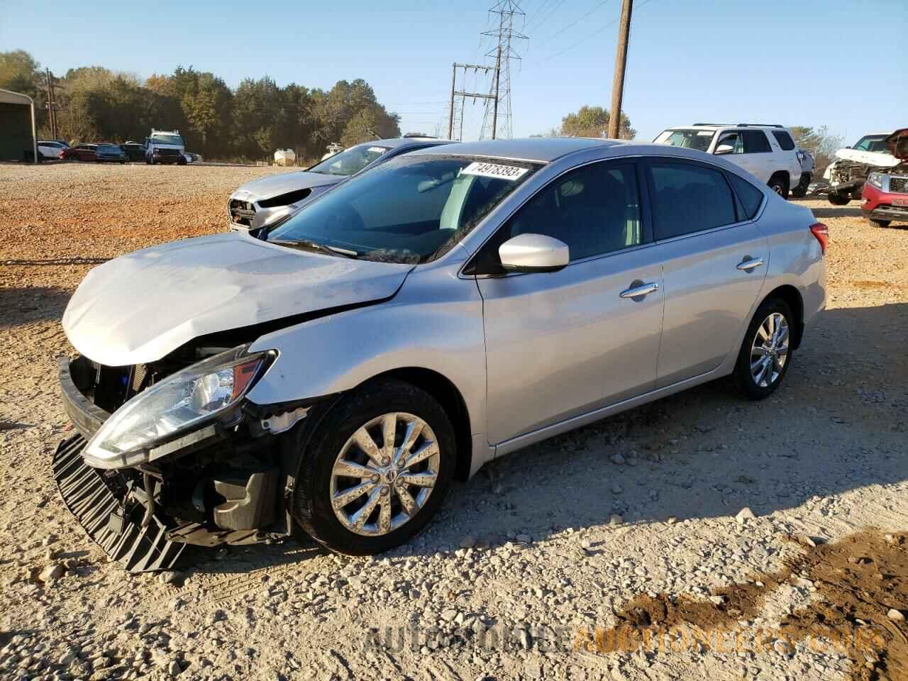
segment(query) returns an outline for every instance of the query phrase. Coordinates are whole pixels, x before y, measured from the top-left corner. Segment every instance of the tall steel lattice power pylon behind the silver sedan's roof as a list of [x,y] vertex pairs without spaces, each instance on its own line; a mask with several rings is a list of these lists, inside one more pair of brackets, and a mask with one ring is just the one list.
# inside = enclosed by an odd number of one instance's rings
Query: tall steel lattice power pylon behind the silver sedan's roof
[[528,40],[514,28],[515,18],[518,22],[526,21],[527,15],[520,9],[517,0],[498,0],[489,10],[493,15],[498,15],[498,28],[486,31],[482,35],[496,38],[496,46],[488,53],[487,57],[495,59],[495,74],[489,89],[489,98],[486,99],[486,114],[482,119],[482,129],[479,139],[487,136],[495,139],[513,137],[513,123],[510,98],[510,62],[520,59],[514,49],[518,40]]

